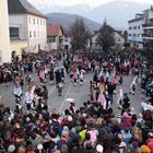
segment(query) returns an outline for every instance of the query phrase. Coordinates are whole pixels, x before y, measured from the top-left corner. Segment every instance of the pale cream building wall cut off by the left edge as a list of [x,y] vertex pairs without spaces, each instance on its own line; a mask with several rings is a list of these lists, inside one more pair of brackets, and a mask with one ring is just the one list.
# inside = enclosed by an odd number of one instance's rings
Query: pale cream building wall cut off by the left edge
[[0,63],[11,61],[8,0],[0,0]]

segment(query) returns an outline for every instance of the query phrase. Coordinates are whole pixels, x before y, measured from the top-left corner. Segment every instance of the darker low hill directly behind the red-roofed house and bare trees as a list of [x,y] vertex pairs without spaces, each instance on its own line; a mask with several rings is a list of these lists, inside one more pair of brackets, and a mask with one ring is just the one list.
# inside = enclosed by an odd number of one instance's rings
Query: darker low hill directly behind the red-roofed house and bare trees
[[63,27],[70,27],[75,22],[75,19],[82,19],[84,21],[85,26],[91,33],[99,30],[102,26],[99,23],[75,14],[49,13],[47,14],[47,17],[49,23],[60,24]]

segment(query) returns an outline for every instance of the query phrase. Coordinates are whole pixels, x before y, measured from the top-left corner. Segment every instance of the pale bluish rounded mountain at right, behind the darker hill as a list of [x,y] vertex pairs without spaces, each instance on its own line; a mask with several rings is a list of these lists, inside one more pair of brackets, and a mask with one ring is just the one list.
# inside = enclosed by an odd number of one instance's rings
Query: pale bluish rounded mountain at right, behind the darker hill
[[85,16],[99,23],[106,19],[107,23],[114,27],[127,28],[128,21],[133,19],[136,13],[149,8],[150,4],[148,3],[114,1],[94,8]]

